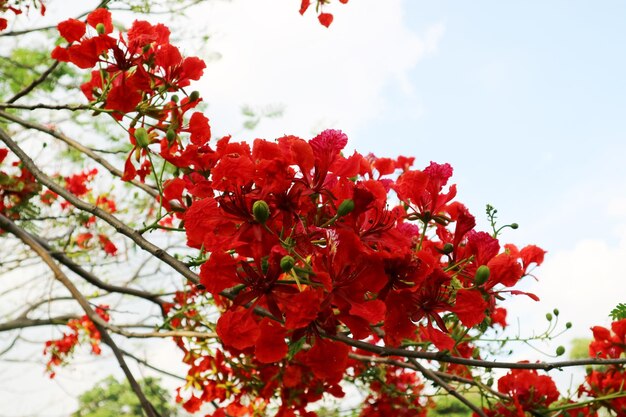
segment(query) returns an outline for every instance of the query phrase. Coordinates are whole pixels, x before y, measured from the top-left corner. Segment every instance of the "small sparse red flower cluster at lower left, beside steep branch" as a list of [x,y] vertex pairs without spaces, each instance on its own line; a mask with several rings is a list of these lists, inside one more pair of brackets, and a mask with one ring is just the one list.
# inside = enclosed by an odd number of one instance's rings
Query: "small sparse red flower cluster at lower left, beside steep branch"
[[[109,306],[99,305],[95,312],[104,321],[109,321]],[[91,353],[99,355],[100,349],[100,332],[96,326],[86,315],[80,319],[72,319],[67,322],[70,331],[63,333],[63,337],[56,340],[48,340],[46,342],[43,354],[50,355],[50,359],[46,364],[46,371],[50,378],[54,378],[56,373],[53,368],[67,363],[68,358],[73,354],[74,349],[81,341],[87,341],[91,345]]]

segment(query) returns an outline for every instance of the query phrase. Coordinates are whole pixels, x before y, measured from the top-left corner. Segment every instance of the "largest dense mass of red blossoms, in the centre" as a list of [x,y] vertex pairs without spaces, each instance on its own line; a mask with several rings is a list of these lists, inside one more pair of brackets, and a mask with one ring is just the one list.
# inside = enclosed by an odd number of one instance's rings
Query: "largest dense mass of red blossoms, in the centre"
[[[257,139],[252,147],[223,138],[216,149],[203,145],[200,169],[166,183],[164,198],[177,203],[189,246],[208,256],[201,284],[224,309],[219,358],[230,358],[219,376],[214,367],[203,374],[197,363],[208,360],[206,352],[185,348],[202,392],[185,402],[191,409],[280,395],[283,413],[306,415],[304,406],[318,398],[312,385],[343,395],[337,383],[350,368],[350,349],[325,339],[343,331],[356,339],[383,332],[388,345],[410,341],[471,356],[455,335],[503,325],[501,307],[489,318],[497,300],[520,293],[508,288],[543,261],[536,246],[501,252],[495,237],[473,230],[474,217],[452,201],[455,187],[446,188],[448,164],[415,170],[404,157],[346,157],[346,144],[338,130],[310,141]],[[394,192],[399,203],[389,207]],[[248,358],[245,378],[240,357]],[[266,373],[289,380],[295,369],[305,386],[251,383]],[[216,394],[215,378],[231,381],[237,394]],[[383,407],[385,398],[372,404]],[[368,408],[371,415],[377,407]]]

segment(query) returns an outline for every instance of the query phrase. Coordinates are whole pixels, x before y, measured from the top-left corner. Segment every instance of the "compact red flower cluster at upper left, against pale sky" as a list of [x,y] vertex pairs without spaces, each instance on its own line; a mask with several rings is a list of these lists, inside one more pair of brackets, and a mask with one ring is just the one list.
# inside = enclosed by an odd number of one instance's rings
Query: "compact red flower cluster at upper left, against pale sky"
[[98,65],[91,80],[81,87],[83,93],[90,101],[102,102],[104,109],[120,119],[135,111],[158,112],[155,106],[163,93],[188,86],[205,68],[199,58],[182,57],[169,43],[170,31],[162,24],[135,21],[126,39],[114,38],[106,9],[91,12],[87,23],[68,19],[59,23],[58,29],[70,45],[56,47],[52,57],[84,69]]

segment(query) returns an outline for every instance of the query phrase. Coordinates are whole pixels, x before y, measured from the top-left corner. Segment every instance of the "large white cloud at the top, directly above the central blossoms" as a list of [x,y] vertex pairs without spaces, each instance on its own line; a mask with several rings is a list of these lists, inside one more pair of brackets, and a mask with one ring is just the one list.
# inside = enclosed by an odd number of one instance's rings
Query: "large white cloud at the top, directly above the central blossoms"
[[284,117],[259,126],[256,134],[267,138],[363,127],[385,111],[390,84],[412,94],[410,70],[437,50],[445,30],[439,23],[418,35],[403,20],[400,0],[337,4],[330,29],[314,10],[300,17],[293,1],[211,2],[205,10],[203,24],[213,33],[206,55],[221,55],[199,86],[214,129],[236,133],[243,104],[285,105]]

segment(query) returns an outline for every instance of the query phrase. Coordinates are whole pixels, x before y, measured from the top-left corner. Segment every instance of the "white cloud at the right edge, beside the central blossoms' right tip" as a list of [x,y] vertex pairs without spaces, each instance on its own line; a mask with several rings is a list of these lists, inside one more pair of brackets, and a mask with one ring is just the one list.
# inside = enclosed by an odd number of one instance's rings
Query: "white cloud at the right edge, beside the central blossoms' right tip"
[[[616,190],[619,187],[614,187]],[[536,293],[541,301],[532,303],[526,300],[515,300],[511,313],[524,320],[526,330],[541,327],[544,313],[559,308],[563,322],[570,321],[573,328],[567,333],[566,339],[574,337],[591,337],[590,327],[608,327],[611,319],[609,312],[618,304],[626,302],[626,200],[618,196],[607,196],[601,193],[595,200],[601,201],[604,210],[596,212],[596,217],[604,223],[604,233],[594,237],[584,237],[584,226],[580,219],[588,218],[592,213],[584,200],[589,200],[591,193],[584,193],[580,187],[582,198],[579,204],[569,201],[573,208],[571,216],[579,219],[570,222],[570,226],[578,227],[581,238],[572,242],[563,242],[561,248],[550,251],[544,264],[537,269],[539,282],[529,283],[527,289]],[[558,210],[554,210],[558,213]],[[586,217],[587,216],[587,217]],[[531,314],[529,314],[529,310]],[[530,322],[528,320],[533,320]],[[568,343],[568,342],[567,342]],[[567,345],[567,344],[566,344]]]

